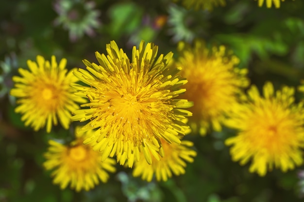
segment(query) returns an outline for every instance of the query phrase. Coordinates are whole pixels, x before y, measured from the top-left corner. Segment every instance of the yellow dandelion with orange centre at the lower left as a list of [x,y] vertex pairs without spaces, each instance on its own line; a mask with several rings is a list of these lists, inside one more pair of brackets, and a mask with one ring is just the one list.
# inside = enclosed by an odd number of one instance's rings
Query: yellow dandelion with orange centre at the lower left
[[[89,135],[91,131],[86,134]],[[46,170],[53,170],[51,176],[53,183],[65,189],[69,184],[76,191],[88,191],[99,182],[106,183],[109,174],[115,172],[116,161],[106,158],[101,161],[101,153],[94,151],[91,146],[83,144],[83,137],[77,135],[77,139],[69,145],[50,140],[50,147],[44,154],[47,159],[43,166]]]

